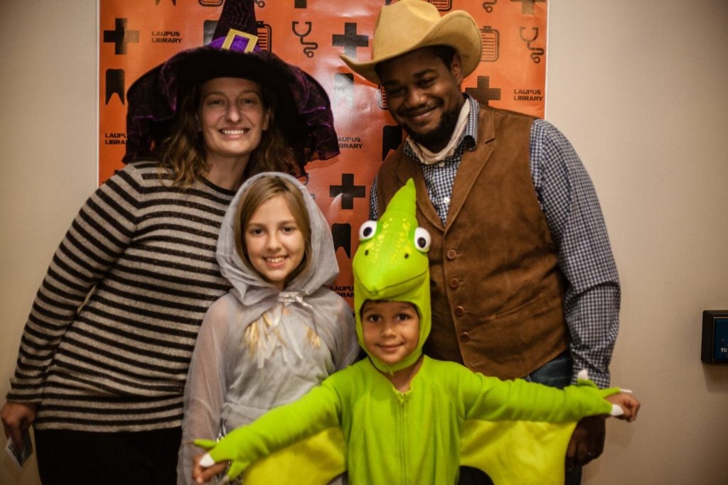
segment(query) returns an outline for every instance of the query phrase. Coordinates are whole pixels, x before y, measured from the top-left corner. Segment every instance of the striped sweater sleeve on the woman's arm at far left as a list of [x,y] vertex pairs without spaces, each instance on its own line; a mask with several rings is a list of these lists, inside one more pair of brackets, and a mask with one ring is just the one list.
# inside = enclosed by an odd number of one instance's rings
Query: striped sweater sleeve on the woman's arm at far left
[[132,239],[143,197],[127,167],[90,196],[50,262],[25,324],[8,401],[39,401],[44,379],[68,325]]

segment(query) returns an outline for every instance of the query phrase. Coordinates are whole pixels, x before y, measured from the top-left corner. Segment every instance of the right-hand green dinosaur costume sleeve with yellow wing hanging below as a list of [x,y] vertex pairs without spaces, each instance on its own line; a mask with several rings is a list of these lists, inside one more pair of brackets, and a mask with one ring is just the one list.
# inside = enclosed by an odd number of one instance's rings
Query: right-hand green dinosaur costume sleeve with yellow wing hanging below
[[566,447],[577,421],[609,414],[612,405],[604,397],[619,391],[600,390],[589,380],[559,390],[438,364],[435,380],[448,382],[444,392],[457,396],[454,405],[464,415],[459,463],[485,471],[494,484],[563,484]]

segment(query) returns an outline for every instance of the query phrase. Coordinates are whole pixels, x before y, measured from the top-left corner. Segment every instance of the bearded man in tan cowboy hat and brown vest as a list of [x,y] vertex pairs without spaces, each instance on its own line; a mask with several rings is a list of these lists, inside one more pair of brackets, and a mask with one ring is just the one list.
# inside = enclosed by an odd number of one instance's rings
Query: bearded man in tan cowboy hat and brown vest
[[[381,9],[371,60],[341,56],[384,87],[408,133],[374,180],[371,217],[415,180],[432,235],[430,356],[556,387],[587,369],[606,387],[620,285],[596,193],[553,125],[462,92],[480,46],[467,12],[440,17],[427,1],[400,0]],[[601,454],[604,433],[602,418],[579,423],[568,483]]]

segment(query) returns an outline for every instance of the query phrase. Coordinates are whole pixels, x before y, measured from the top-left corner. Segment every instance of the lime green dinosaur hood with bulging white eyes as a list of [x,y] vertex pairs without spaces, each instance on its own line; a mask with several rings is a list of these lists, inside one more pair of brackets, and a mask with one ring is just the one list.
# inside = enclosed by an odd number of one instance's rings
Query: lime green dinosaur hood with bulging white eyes
[[362,337],[361,308],[366,300],[410,302],[419,312],[419,342],[403,361],[387,365],[367,351],[382,372],[392,373],[414,364],[430,334],[430,233],[417,226],[416,191],[412,179],[392,197],[378,221],[368,221],[359,231],[360,244],[354,255],[354,310],[359,345]]

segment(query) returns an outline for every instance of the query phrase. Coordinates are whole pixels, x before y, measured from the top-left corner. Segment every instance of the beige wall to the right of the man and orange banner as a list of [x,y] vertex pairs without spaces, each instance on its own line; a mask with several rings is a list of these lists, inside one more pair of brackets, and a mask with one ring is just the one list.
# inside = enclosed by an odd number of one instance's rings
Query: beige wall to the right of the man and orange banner
[[622,280],[609,422],[590,484],[728,483],[728,365],[700,362],[728,309],[728,4],[550,1],[547,119],[592,176]]

